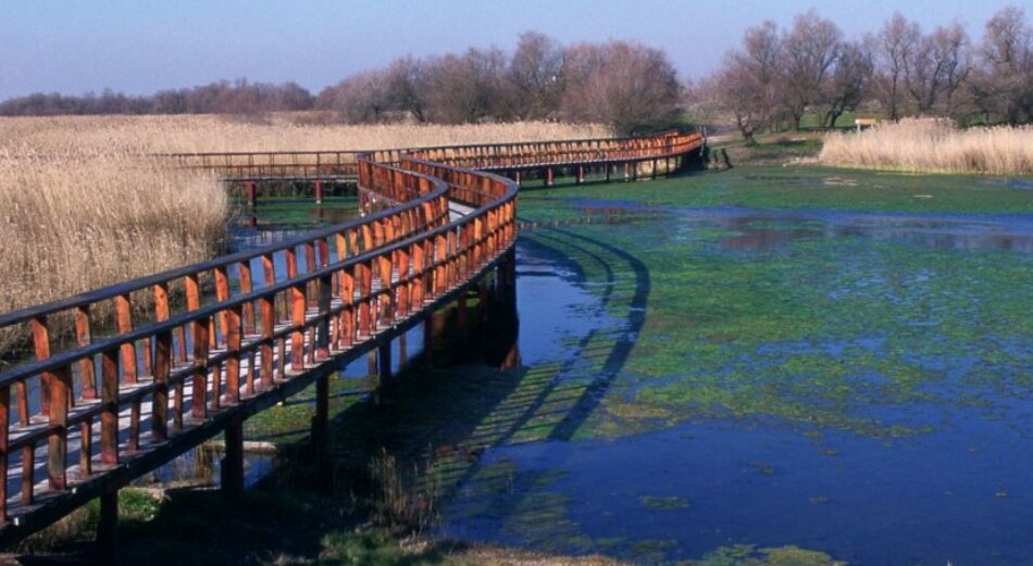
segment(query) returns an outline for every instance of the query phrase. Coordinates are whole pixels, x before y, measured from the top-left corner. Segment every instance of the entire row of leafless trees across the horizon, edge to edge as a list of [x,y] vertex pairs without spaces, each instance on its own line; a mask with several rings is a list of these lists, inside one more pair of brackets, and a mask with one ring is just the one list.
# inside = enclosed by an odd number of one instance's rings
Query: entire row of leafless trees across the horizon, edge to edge
[[746,30],[720,68],[683,86],[667,54],[637,42],[563,45],[526,32],[515,49],[403,56],[313,95],[295,83],[217,81],[133,97],[35,93],[0,102],[0,115],[261,114],[322,110],[348,123],[445,124],[562,120],[631,134],[676,124],[681,108],[731,118],[743,137],[799,128],[805,115],[835,127],[847,112],[889,120],[1033,121],[1033,28],[1006,8],[973,41],[960,24],[924,32],[896,13],[848,39],[813,10],[781,29]]

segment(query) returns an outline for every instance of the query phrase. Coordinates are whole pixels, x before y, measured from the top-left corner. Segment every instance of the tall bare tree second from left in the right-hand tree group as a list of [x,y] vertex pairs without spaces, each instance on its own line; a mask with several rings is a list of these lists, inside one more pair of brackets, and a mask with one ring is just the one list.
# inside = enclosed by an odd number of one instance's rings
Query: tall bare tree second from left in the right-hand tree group
[[836,59],[843,32],[813,10],[796,16],[793,29],[782,42],[785,106],[793,127],[800,127],[804,112],[820,103],[825,83]]

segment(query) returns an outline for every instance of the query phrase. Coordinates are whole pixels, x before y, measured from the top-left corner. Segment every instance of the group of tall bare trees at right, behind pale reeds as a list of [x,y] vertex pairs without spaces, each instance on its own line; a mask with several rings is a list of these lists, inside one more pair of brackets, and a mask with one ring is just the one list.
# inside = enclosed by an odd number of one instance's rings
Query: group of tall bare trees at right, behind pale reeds
[[772,22],[747,29],[692,91],[700,106],[734,118],[747,140],[799,128],[805,113],[825,127],[847,111],[1023,124],[1033,121],[1033,28],[1021,9],[1005,8],[974,42],[958,23],[924,32],[898,12],[878,32],[846,39],[812,10],[789,29]]

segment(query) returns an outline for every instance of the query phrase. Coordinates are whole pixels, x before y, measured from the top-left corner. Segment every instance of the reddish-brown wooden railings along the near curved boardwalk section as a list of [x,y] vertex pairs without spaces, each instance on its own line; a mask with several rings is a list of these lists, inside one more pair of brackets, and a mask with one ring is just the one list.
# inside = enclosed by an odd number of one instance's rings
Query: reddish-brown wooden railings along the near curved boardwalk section
[[[0,374],[0,517],[17,524],[62,495],[82,503],[99,489],[88,486],[125,481],[115,473],[135,461],[153,468],[162,462],[144,457],[148,452],[331,356],[358,352],[515,238],[512,181],[459,174],[476,183],[471,200],[478,209],[449,222],[445,181],[363,159],[358,167],[360,186],[403,204],[263,250],[0,315],[0,328],[30,326],[35,347],[34,361]],[[91,331],[90,313],[100,307],[116,313],[109,336]],[[48,320],[70,312],[77,340],[59,351]]]

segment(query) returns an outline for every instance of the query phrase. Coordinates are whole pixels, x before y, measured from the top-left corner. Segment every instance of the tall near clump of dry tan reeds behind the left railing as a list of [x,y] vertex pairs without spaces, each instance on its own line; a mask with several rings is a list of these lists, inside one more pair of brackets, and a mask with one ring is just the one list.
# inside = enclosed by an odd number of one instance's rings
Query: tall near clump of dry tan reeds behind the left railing
[[[0,148],[0,312],[204,260],[223,242],[228,212],[211,176],[25,148],[17,156]],[[66,334],[71,315],[51,325]],[[24,337],[0,331],[0,354]]]

